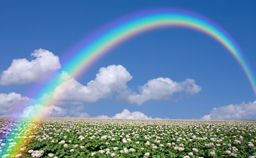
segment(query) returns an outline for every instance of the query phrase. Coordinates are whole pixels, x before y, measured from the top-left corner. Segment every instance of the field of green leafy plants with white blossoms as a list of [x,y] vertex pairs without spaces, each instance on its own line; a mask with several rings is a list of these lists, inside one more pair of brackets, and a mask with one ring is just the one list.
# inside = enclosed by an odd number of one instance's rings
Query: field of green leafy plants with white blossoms
[[[46,118],[27,130],[22,119],[0,119],[1,157],[256,157],[256,121]],[[7,124],[21,124],[6,128]],[[15,126],[15,125],[13,125]],[[8,133],[15,137],[6,140]]]

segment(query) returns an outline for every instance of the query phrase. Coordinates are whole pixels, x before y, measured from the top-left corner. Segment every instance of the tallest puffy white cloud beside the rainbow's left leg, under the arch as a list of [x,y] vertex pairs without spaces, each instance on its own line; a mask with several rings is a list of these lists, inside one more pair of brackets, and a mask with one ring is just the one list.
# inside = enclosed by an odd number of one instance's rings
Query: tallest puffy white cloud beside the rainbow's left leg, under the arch
[[[63,76],[67,74],[63,72]],[[100,68],[95,80],[88,82],[86,86],[70,78],[55,89],[53,97],[62,103],[95,102],[127,89],[126,84],[131,78],[132,76],[123,66],[110,65],[107,68]]]

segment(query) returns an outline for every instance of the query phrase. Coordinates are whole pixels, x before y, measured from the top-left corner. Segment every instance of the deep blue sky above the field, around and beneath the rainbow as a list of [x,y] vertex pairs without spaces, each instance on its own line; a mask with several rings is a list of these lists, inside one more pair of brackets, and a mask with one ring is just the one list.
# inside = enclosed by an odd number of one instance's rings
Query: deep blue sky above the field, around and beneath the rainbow
[[[36,51],[38,54],[48,53],[50,59],[59,57],[59,65],[63,65],[63,55],[98,28],[127,14],[161,7],[185,9],[212,20],[235,39],[256,70],[255,1],[1,1],[1,78],[13,59],[36,60],[30,54],[40,48]],[[160,99],[151,97],[141,105],[118,99],[119,92],[115,91],[97,97],[96,101],[83,100],[79,104],[74,104],[74,97],[69,98],[73,102],[52,105],[47,109],[49,116],[256,119],[255,95],[241,66],[220,43],[201,32],[162,28],[140,34],[110,50],[87,72],[75,78],[75,83],[80,83],[82,88],[91,80],[95,81],[102,67],[106,68],[106,73],[116,74],[117,65],[121,65],[123,73],[129,72],[132,76],[131,80],[123,80],[127,90],[134,93],[139,93],[138,86],[160,77],[177,83],[191,78],[201,90],[193,94],[184,90]],[[40,74],[40,71],[35,73]],[[27,92],[34,84],[40,86],[33,80],[24,83],[17,79],[8,85],[2,82],[0,109],[3,112],[0,115],[8,116],[20,101],[33,99]]]

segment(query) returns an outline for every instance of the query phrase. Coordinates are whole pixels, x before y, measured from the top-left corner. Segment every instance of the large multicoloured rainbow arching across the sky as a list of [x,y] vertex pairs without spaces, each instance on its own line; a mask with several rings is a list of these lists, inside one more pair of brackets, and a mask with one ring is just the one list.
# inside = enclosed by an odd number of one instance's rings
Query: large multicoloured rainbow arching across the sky
[[[71,51],[64,56],[63,61],[66,62],[61,70],[67,72],[73,78],[77,78],[82,72],[88,69],[90,65],[94,64],[100,57],[108,53],[110,49],[119,43],[143,32],[163,27],[191,28],[216,39],[216,41],[222,44],[238,61],[256,95],[256,80],[253,68],[251,68],[245,55],[234,39],[210,20],[198,14],[180,10],[154,9],[144,11],[125,16],[105,26],[98,30],[98,32],[80,41],[76,47],[71,49]],[[55,98],[51,95],[46,97],[44,94],[53,93],[57,86],[65,86],[65,80],[68,78],[63,80],[61,75],[55,74],[51,79],[51,82],[44,85],[40,92],[34,97],[37,100],[34,104],[42,105],[42,107],[36,109],[29,117],[43,117],[44,114],[41,115],[42,109],[55,103]],[[42,99],[42,97],[44,97],[44,99]],[[22,144],[21,142],[20,140],[20,144]]]

